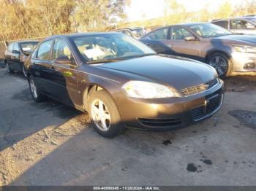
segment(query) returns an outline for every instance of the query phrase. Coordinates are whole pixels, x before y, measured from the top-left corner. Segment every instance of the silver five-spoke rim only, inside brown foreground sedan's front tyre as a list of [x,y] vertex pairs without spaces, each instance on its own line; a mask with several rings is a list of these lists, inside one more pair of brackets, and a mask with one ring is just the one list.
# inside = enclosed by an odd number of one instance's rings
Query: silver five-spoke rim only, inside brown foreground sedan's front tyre
[[103,101],[96,99],[91,104],[91,116],[94,124],[102,131],[107,131],[110,128],[110,112]]

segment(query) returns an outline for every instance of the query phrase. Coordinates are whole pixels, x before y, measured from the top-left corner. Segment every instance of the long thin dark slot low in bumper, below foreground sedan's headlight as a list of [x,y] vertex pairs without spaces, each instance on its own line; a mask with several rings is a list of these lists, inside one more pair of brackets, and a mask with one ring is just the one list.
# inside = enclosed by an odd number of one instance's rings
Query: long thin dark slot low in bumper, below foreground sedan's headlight
[[146,126],[151,127],[166,127],[173,125],[180,125],[181,119],[146,119],[146,118],[138,118],[138,120]]

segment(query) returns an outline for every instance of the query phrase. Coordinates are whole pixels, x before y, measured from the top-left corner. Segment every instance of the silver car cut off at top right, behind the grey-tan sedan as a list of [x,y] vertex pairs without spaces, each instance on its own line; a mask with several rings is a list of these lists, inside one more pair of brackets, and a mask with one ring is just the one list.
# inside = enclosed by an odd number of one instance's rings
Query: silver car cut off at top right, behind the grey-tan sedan
[[212,20],[211,23],[231,31],[233,34],[256,35],[256,16],[248,15],[227,19]]

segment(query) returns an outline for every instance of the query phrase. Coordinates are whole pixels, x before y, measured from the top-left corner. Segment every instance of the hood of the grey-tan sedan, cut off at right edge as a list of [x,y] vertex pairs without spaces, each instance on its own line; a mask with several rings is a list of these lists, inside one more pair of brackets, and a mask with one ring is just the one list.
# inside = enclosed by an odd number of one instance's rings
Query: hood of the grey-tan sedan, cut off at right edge
[[256,36],[252,35],[227,35],[219,36],[216,39],[222,39],[224,41],[236,43],[236,44],[246,44],[256,46]]

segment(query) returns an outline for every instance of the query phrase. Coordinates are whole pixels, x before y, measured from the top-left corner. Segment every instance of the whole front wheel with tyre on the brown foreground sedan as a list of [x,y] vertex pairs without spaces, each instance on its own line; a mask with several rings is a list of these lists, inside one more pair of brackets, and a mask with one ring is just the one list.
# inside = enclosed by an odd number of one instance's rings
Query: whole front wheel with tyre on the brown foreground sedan
[[105,90],[89,94],[89,116],[101,136],[113,138],[124,129],[116,104]]

